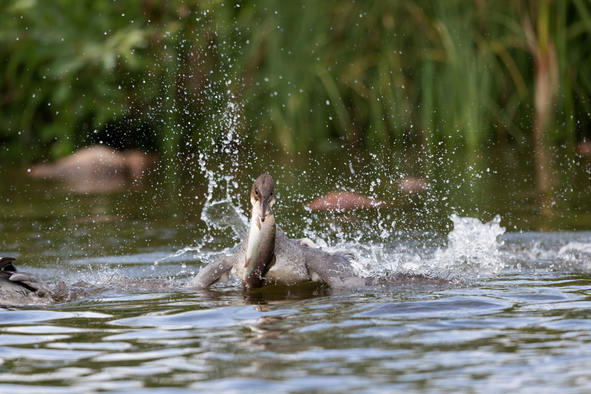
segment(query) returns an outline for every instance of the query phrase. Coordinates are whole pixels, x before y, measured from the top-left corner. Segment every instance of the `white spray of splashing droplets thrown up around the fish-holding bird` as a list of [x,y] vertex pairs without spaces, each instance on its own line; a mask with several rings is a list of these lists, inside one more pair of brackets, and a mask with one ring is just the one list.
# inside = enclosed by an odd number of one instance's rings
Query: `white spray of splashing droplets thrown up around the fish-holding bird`
[[[204,12],[203,16],[206,17],[207,12]],[[217,32],[214,31],[213,34],[217,35]],[[179,40],[178,44],[180,47],[177,45],[175,48],[179,53],[183,52],[181,48],[184,44],[190,45],[185,40]],[[224,41],[223,44],[226,42]],[[210,45],[210,47],[213,47],[212,51],[220,51],[219,46]],[[219,77],[215,79],[208,74],[202,88],[205,99],[209,103],[215,103],[219,109],[213,113],[213,116],[207,115],[211,118],[210,129],[196,137],[199,139],[199,151],[194,154],[199,164],[199,171],[207,182],[206,194],[194,196],[198,200],[203,198],[200,219],[206,224],[207,229],[206,232],[197,236],[193,245],[185,246],[168,256],[157,259],[152,269],[160,262],[178,258],[187,253],[192,253],[195,259],[203,263],[209,263],[221,255],[233,253],[239,247],[248,228],[248,218],[241,200],[244,200],[245,193],[249,191],[249,181],[258,174],[253,174],[248,168],[252,167],[251,161],[245,157],[255,157],[255,159],[260,157],[257,158],[252,154],[251,148],[245,143],[246,138],[241,135],[241,130],[246,129],[243,124],[245,117],[242,113],[244,105],[239,96],[241,82],[236,77],[236,73],[232,72],[231,57],[222,54],[220,59],[223,60],[215,73]],[[170,89],[170,86],[168,87]],[[186,105],[189,104],[190,100],[186,102]],[[167,116],[168,113],[177,110],[177,108],[168,107],[162,109]],[[187,110],[185,108],[186,113],[188,113]],[[174,119],[169,120],[173,122]],[[174,129],[171,131],[172,134],[180,132]],[[197,144],[197,141],[192,142]],[[344,148],[345,145],[340,146]],[[389,158],[387,152],[382,153],[381,156],[371,153],[363,158],[351,152],[349,157],[335,165],[334,175],[328,175],[327,178],[320,180],[314,177],[314,174],[301,170],[297,165],[287,169],[281,167],[283,171],[275,168],[277,175],[281,175],[281,178],[285,175],[291,177],[291,184],[294,185],[291,190],[285,185],[286,201],[282,202],[281,198],[278,198],[278,211],[293,209],[294,205],[300,203],[303,205],[306,198],[310,196],[310,190],[314,188],[326,190],[329,187],[332,190],[362,191],[372,199],[401,200],[398,184],[402,177],[412,175],[410,174],[412,165],[408,164],[407,157]],[[417,152],[414,153],[417,154]],[[433,153],[429,155],[434,159]],[[415,167],[420,168],[421,155],[416,156],[418,159]],[[327,166],[322,158],[313,158],[311,161],[311,168],[314,165]],[[337,167],[340,170],[344,168],[344,173],[347,175],[343,177],[343,172],[339,173]],[[414,170],[416,171],[417,168]],[[467,175],[473,175],[471,178],[482,178],[485,174],[485,170],[472,166],[467,170],[470,172]],[[437,173],[432,168],[421,168],[418,172],[423,172],[424,179],[420,181],[426,187],[437,184]],[[488,174],[488,169],[486,173]],[[191,179],[193,178],[194,175]],[[406,184],[409,184],[410,178],[405,179],[407,179]],[[472,181],[468,181],[467,184],[472,187]],[[413,196],[413,204],[417,207],[413,213],[414,216],[413,214],[401,216],[392,214],[391,216],[389,213],[382,214],[377,210],[377,214],[372,217],[368,218],[365,215],[365,220],[361,216],[355,216],[358,214],[356,213],[352,217],[341,218],[345,222],[350,220],[351,223],[331,220],[326,220],[324,223],[317,213],[300,210],[296,212],[300,216],[297,220],[287,218],[285,224],[292,230],[291,236],[309,237],[320,245],[320,248],[329,252],[352,250],[357,256],[353,265],[365,276],[385,275],[388,272],[400,270],[417,272],[421,275],[427,275],[429,272],[460,272],[470,275],[496,273],[514,267],[521,269],[522,265],[519,262],[508,263],[503,250],[504,241],[501,240],[505,229],[500,225],[500,216],[495,216],[491,222],[482,223],[474,217],[460,217],[452,214],[449,219],[453,222],[453,229],[444,239],[443,245],[436,245],[434,236],[429,242],[428,236],[421,235],[422,239],[427,239],[422,247],[420,243],[415,242],[412,235],[406,238],[401,237],[400,229],[407,227],[417,218],[434,215],[443,209],[447,209],[448,213],[454,211],[453,208],[448,208],[449,201],[446,201],[446,193],[449,193],[449,190],[440,188],[437,191],[434,188],[432,192],[428,191],[423,196]],[[293,211],[291,213],[294,214]],[[439,217],[441,216],[444,217],[439,214]],[[220,233],[226,238],[231,237],[234,245],[222,250],[212,250],[210,244],[219,240]],[[427,245],[428,243],[430,245]],[[581,253],[589,253],[587,246],[587,244],[570,243],[564,245],[558,255],[562,256],[561,261],[573,261],[573,259],[579,259]],[[186,272],[193,273],[190,269],[187,270],[183,263],[180,273]]]

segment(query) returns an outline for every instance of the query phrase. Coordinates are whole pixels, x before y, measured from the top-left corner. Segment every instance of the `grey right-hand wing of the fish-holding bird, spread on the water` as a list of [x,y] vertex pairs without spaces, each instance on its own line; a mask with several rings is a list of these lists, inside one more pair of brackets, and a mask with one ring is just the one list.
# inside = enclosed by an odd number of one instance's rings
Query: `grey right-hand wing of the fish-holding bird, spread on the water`
[[368,278],[363,278],[352,266],[350,261],[355,258],[350,252],[328,253],[320,249],[298,245],[306,256],[306,266],[310,271],[320,275],[328,285],[333,287],[358,288],[366,285]]

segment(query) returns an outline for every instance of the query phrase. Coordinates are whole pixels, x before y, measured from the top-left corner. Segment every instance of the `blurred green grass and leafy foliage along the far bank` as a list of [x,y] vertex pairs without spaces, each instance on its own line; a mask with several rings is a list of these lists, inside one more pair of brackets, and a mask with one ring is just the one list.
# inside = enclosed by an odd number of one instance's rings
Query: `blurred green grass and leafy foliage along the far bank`
[[288,152],[500,143],[544,167],[548,146],[589,137],[588,0],[0,8],[0,154],[17,161],[109,138],[195,152],[223,138],[232,95],[244,138]]

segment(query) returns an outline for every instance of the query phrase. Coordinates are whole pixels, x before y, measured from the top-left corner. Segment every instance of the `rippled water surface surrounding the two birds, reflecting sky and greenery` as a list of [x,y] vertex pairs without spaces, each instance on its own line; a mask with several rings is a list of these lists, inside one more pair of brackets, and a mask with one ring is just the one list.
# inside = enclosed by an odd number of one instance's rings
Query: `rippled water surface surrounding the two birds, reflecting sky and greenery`
[[[404,267],[452,281],[387,292],[320,284],[245,292],[232,282],[187,291],[180,285],[194,272],[235,248],[243,224],[228,219],[230,206],[209,207],[208,224],[202,206],[184,207],[193,219],[174,219],[173,209],[112,219],[157,208],[139,193],[76,196],[69,206],[73,197],[51,187],[29,185],[20,205],[3,206],[0,252],[48,282],[75,284],[79,299],[2,307],[0,393],[591,388],[591,232],[505,233],[501,217],[452,215],[441,225],[451,233],[397,229],[366,242],[339,237],[348,222],[333,220],[332,236],[317,230],[314,240],[353,250],[359,270]],[[59,201],[44,203],[46,193]],[[314,220],[309,236],[330,218]],[[225,229],[206,229],[216,223]],[[301,232],[294,223],[283,225]]]

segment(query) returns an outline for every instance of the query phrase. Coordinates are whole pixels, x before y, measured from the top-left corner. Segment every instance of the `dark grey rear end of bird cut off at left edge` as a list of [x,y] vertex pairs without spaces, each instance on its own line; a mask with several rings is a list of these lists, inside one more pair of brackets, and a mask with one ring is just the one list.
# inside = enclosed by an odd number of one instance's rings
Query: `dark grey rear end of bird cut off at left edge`
[[14,257],[0,259],[0,295],[37,295],[44,298],[50,294],[49,286],[31,272],[18,271],[12,263]]

